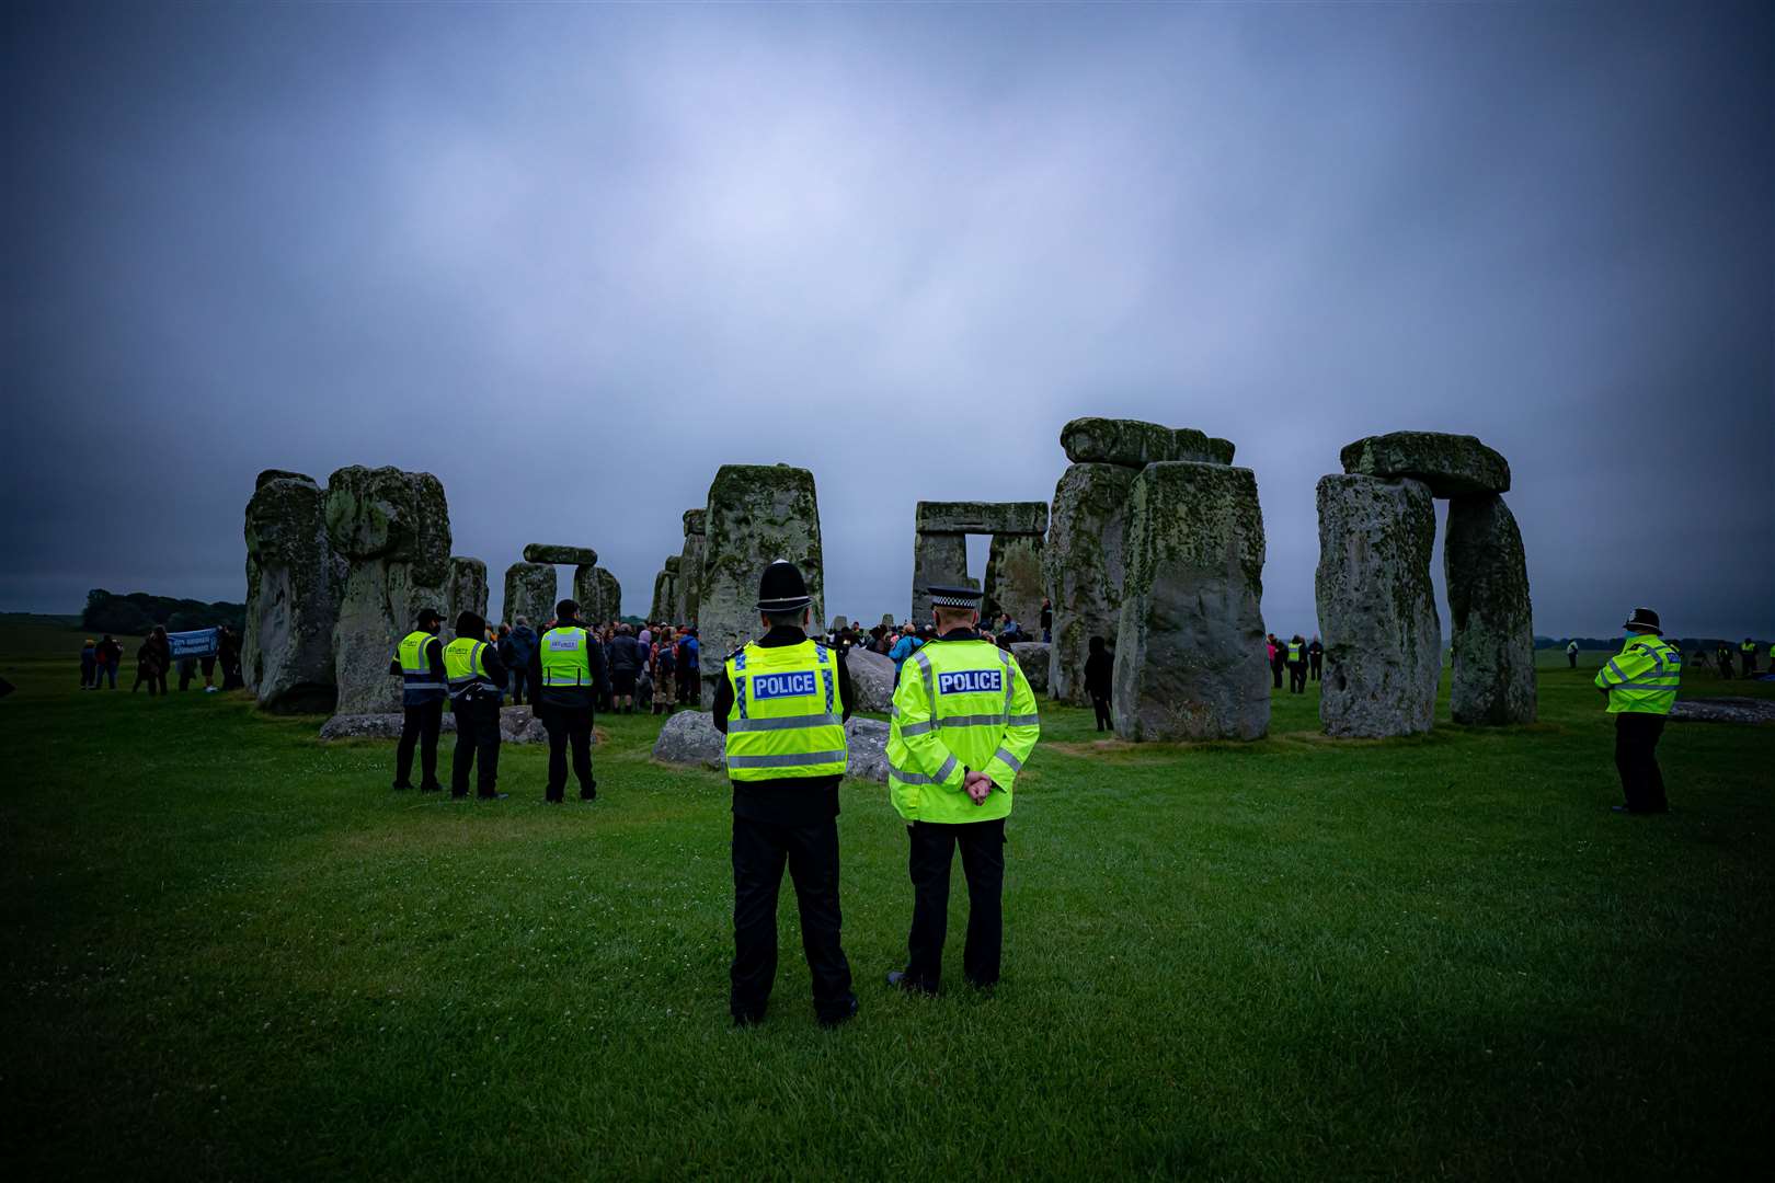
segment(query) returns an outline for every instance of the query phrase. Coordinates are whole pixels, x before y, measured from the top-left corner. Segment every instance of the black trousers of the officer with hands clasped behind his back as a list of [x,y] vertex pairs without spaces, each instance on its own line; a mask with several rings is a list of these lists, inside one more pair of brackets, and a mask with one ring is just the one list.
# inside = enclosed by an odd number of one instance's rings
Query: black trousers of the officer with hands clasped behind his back
[[950,933],[950,864],[962,848],[967,876],[967,944],[962,974],[974,986],[990,986],[999,975],[1005,944],[1005,819],[937,823],[914,821],[911,839],[912,933],[905,986],[935,991],[943,979],[943,942]]

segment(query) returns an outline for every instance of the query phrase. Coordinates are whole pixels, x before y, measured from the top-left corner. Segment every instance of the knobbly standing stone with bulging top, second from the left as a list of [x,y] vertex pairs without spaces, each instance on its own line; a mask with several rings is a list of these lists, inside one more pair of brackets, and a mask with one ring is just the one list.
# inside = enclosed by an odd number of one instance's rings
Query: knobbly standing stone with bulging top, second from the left
[[394,646],[419,608],[447,598],[444,486],[430,472],[341,468],[327,479],[327,537],[350,564],[332,639],[335,709],[398,711],[401,679],[389,676]]

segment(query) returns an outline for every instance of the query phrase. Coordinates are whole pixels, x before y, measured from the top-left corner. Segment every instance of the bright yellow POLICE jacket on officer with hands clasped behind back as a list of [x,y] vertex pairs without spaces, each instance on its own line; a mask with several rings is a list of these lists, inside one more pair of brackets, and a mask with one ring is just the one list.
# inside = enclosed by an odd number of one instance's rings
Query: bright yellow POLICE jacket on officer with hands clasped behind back
[[[888,727],[888,798],[907,821],[992,821],[1042,734],[1035,692],[990,640],[932,640],[907,658]],[[998,786],[983,805],[962,791],[967,770]]]

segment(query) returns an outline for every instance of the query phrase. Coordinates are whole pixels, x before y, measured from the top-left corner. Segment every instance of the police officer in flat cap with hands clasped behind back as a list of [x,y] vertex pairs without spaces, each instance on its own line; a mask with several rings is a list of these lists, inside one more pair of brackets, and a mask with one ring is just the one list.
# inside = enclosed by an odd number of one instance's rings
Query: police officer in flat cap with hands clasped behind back
[[982,592],[927,591],[937,637],[907,660],[888,733],[888,796],[907,821],[912,873],[911,956],[888,984],[935,993],[957,846],[967,876],[962,974],[973,986],[999,979],[1005,818],[1042,717],[1015,658],[974,631]]

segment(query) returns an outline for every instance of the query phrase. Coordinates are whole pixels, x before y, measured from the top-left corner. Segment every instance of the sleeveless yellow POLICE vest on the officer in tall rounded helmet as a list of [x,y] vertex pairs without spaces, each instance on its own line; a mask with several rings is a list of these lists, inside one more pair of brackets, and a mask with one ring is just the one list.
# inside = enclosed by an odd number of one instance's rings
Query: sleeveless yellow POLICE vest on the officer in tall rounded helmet
[[845,775],[845,699],[831,649],[747,642],[722,674],[733,688],[730,780]]

